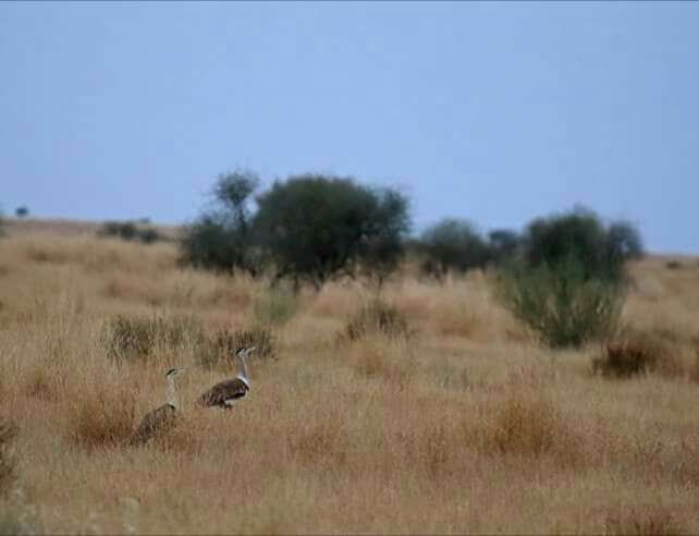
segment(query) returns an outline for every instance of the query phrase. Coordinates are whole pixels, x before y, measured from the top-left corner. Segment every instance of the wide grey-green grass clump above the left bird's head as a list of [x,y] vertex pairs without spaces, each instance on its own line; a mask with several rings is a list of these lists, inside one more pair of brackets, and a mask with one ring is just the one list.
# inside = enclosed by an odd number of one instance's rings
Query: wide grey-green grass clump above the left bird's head
[[111,319],[103,332],[107,355],[116,361],[147,358],[158,348],[177,349],[201,342],[204,331],[194,316],[151,317],[119,315]]

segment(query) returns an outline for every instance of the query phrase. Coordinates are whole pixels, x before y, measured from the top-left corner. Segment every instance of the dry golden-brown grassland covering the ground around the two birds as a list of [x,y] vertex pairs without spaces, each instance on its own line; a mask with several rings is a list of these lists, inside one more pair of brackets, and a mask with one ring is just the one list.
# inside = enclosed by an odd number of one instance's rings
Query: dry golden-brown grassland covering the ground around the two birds
[[[406,273],[378,310],[360,284],[266,297],[175,256],[47,230],[0,241],[0,532],[699,533],[695,260],[636,264],[628,330],[551,352],[482,273]],[[114,358],[128,321],[147,351]],[[206,341],[260,322],[274,358],[253,361],[249,398],[196,409],[226,370]],[[616,374],[620,355],[646,361]],[[130,446],[171,366],[187,367],[181,422]]]

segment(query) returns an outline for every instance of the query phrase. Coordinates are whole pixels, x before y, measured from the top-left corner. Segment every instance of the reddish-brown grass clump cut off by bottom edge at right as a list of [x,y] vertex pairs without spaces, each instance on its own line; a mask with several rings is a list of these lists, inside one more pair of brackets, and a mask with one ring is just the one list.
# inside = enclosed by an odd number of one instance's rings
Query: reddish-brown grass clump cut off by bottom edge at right
[[604,533],[620,536],[664,536],[684,534],[685,531],[665,508],[651,504],[608,515],[604,520]]

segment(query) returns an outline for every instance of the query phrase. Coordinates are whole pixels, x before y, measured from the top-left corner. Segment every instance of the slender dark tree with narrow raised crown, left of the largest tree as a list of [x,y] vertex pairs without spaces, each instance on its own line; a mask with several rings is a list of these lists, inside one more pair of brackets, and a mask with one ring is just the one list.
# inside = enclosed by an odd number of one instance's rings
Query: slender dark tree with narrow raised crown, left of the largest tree
[[181,263],[209,270],[259,273],[260,252],[247,208],[258,183],[257,176],[248,171],[219,175],[213,186],[216,208],[184,229]]

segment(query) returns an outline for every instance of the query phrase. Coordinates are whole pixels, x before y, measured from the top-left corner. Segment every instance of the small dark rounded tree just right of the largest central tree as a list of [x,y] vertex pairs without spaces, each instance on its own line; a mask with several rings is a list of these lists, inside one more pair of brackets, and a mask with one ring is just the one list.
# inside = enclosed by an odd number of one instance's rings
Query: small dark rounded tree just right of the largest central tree
[[447,218],[422,233],[425,273],[442,279],[453,270],[463,273],[488,261],[488,246],[473,223]]

